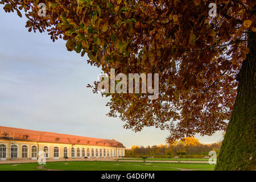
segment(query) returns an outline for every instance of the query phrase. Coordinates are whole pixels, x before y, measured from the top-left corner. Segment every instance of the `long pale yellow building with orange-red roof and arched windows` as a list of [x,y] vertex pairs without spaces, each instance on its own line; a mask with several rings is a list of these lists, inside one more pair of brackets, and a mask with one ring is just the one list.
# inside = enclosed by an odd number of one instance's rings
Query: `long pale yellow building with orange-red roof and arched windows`
[[0,160],[119,158],[125,147],[116,140],[80,137],[0,126]]

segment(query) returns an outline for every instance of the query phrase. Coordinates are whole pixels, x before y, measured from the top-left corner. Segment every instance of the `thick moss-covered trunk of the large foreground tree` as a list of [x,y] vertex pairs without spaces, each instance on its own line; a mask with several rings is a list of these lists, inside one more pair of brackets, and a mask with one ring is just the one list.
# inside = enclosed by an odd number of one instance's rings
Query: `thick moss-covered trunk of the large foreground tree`
[[255,32],[250,32],[250,52],[237,76],[237,97],[215,170],[255,170],[255,38]]

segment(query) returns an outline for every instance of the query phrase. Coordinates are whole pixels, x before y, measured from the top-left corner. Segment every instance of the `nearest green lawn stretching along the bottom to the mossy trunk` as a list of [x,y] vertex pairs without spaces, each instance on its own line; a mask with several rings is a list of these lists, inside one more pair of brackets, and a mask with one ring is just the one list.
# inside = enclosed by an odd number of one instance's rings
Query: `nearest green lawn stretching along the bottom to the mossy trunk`
[[214,165],[209,164],[170,164],[170,163],[140,163],[140,162],[48,162],[40,166],[38,163],[0,164],[0,171],[180,171],[209,170]]

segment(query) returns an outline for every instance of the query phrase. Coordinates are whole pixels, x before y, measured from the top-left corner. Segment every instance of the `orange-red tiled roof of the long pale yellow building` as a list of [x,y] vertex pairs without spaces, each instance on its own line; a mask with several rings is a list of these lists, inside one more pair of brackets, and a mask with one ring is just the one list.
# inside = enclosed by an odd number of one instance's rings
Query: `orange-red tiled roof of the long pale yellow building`
[[[67,143],[67,144],[82,144],[92,146],[110,146],[124,147],[122,143],[112,139],[100,139],[90,137],[80,137],[76,135],[59,134],[45,131],[35,131],[26,129],[17,129],[14,127],[0,126],[0,132],[5,133],[5,137],[0,136],[0,139],[22,140],[28,142],[45,142],[45,143]],[[23,137],[27,136],[27,137]],[[89,143],[88,143],[89,142]],[[97,142],[97,144],[96,144]]]

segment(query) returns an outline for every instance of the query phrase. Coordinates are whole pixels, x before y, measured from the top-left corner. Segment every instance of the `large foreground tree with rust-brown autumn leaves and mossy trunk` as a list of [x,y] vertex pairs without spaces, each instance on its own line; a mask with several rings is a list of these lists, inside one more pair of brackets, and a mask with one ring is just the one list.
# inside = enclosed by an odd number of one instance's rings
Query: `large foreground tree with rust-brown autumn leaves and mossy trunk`
[[216,169],[254,169],[255,1],[219,0],[216,17],[203,0],[48,0],[39,16],[42,2],[0,1],[6,12],[26,12],[28,31],[67,40],[107,75],[159,73],[156,100],[104,94],[125,129],[160,127],[170,143],[226,130]]

